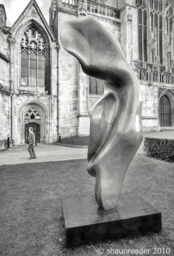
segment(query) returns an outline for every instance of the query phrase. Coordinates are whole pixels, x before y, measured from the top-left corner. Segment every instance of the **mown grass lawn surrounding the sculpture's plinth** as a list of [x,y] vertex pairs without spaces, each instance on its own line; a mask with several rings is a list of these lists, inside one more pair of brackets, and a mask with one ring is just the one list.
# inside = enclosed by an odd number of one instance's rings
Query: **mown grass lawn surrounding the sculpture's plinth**
[[134,158],[123,191],[133,191],[161,211],[163,231],[75,249],[64,247],[61,200],[94,193],[95,179],[86,172],[86,163],[74,160],[0,166],[0,255],[93,256],[98,255],[99,247],[105,251],[144,248],[150,249],[147,255],[155,255],[153,248],[170,247],[169,255],[173,256],[174,164],[143,155]]

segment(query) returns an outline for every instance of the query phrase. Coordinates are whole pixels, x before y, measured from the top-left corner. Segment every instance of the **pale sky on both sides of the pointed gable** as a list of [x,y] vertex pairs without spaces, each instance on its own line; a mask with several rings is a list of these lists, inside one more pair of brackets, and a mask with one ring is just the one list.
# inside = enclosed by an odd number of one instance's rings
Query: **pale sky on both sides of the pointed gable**
[[[6,9],[6,26],[11,27],[19,15],[23,12],[30,0],[0,0],[0,4],[4,4]],[[40,6],[41,12],[45,19],[49,20],[49,8],[51,0],[36,0]]]

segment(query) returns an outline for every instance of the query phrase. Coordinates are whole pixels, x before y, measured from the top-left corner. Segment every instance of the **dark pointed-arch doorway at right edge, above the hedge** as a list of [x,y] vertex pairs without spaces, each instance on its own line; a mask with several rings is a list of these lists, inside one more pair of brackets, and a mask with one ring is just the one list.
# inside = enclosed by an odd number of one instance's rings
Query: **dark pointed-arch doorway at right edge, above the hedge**
[[163,95],[159,101],[159,118],[161,126],[171,126],[171,106],[166,95]]

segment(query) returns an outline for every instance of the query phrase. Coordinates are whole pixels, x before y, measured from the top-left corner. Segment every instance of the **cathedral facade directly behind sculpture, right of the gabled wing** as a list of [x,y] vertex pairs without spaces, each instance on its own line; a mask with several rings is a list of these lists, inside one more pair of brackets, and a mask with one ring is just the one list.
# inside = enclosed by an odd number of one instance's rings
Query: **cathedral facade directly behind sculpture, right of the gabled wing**
[[[59,130],[65,136],[89,134],[89,109],[104,92],[104,83],[86,76],[64,51],[61,24],[92,15],[119,40],[140,81],[143,131],[174,128],[174,1],[52,0],[50,26],[59,44]],[[102,60],[101,60],[102,61]]]

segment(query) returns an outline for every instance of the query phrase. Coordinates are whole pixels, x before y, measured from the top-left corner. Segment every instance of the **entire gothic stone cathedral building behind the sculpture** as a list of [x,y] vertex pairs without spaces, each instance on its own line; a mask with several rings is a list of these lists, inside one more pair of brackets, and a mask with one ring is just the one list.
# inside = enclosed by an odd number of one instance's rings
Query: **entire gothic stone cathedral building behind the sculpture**
[[[92,15],[111,29],[140,81],[144,131],[174,127],[173,0],[52,0],[50,26],[31,0],[11,28],[0,4],[0,143],[89,134],[88,112],[105,90],[64,51],[65,20]],[[101,60],[102,61],[102,60]]]

